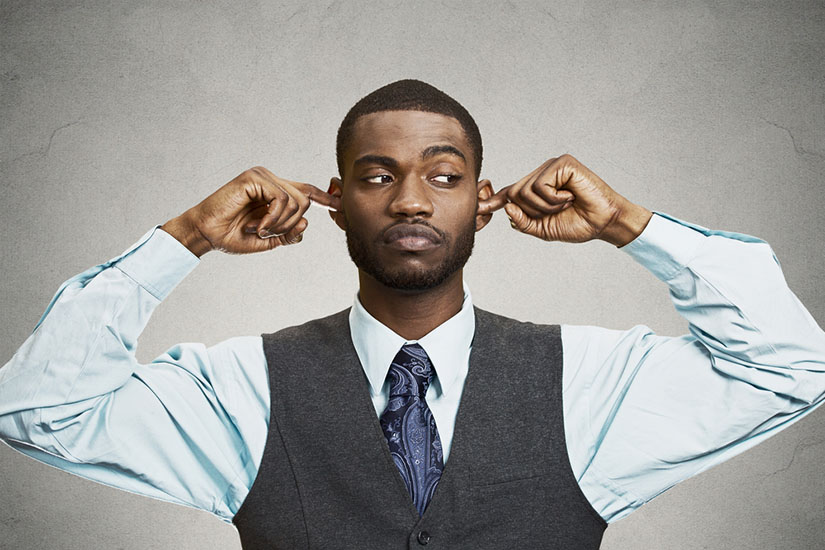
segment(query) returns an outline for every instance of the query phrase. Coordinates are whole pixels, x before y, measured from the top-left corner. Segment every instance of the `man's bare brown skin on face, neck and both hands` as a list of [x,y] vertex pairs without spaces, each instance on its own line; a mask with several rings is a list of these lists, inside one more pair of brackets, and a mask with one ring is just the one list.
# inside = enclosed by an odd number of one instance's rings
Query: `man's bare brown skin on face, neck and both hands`
[[[474,221],[480,231],[502,208],[522,233],[548,241],[601,239],[618,247],[635,239],[652,216],[569,155],[548,160],[494,193],[490,182],[475,174],[458,121],[435,113],[361,117],[343,160],[342,178],[332,178],[328,192],[265,168],[247,170],[161,229],[197,256],[215,249],[261,252],[300,242],[307,227],[304,213],[316,202],[331,210],[342,229],[353,224],[389,271],[427,271],[448,256],[461,228]],[[399,224],[435,229],[394,234],[390,228]],[[390,288],[359,269],[359,297],[378,321],[417,340],[461,309],[462,275],[458,269],[434,288],[409,291]]]

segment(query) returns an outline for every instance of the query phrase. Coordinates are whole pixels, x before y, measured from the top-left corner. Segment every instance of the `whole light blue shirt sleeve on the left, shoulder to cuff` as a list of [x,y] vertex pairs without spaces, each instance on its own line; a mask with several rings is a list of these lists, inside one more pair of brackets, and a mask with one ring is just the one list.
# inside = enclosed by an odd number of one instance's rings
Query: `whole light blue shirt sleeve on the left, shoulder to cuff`
[[66,281],[0,369],[0,438],[82,477],[231,521],[266,438],[261,338],[135,359],[152,312],[198,263],[155,228]]

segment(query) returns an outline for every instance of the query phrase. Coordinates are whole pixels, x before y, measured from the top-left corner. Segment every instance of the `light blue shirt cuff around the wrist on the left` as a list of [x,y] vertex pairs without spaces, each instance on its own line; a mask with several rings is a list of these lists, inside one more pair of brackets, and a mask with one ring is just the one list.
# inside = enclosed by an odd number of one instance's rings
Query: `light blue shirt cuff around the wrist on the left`
[[155,227],[117,260],[115,266],[163,300],[200,259],[172,235]]

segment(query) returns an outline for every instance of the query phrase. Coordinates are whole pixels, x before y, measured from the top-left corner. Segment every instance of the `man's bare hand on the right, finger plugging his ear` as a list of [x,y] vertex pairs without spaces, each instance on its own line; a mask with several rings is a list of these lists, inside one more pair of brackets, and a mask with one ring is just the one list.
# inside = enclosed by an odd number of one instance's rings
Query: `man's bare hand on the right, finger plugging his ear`
[[601,239],[624,246],[652,213],[616,193],[570,155],[553,158],[479,204],[479,214],[504,208],[514,229],[546,241]]

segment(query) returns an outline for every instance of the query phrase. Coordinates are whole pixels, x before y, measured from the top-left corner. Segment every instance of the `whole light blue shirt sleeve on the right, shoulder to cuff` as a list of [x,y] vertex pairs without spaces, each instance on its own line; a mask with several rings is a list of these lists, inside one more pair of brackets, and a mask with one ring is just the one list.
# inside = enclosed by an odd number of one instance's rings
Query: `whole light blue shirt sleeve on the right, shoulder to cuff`
[[689,334],[562,327],[568,452],[608,522],[825,398],[825,333],[767,243],[657,214],[623,250],[668,285]]

